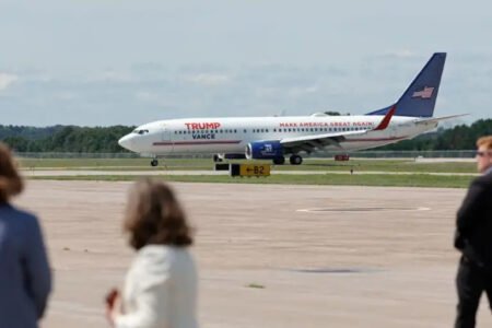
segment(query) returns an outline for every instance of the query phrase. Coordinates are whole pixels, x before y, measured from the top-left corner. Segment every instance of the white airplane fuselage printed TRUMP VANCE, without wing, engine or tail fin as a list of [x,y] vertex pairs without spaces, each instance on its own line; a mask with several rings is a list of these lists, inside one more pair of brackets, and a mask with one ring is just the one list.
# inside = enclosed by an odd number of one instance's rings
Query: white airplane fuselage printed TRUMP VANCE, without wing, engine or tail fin
[[[384,116],[291,116],[186,118],[150,122],[138,127],[120,140],[131,151],[165,156],[169,154],[244,153],[247,144],[304,136],[374,129]],[[324,150],[355,151],[372,149],[413,138],[435,128],[415,125],[415,117],[394,117],[382,131],[347,136],[339,144]],[[340,148],[341,147],[341,148]]]

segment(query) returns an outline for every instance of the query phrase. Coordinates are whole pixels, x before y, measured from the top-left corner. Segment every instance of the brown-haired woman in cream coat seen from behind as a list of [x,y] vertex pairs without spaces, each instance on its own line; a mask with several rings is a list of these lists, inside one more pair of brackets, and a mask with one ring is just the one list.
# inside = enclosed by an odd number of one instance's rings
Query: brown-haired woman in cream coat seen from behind
[[169,187],[144,179],[131,188],[124,229],[137,256],[122,296],[112,290],[106,316],[117,328],[197,328],[191,229]]

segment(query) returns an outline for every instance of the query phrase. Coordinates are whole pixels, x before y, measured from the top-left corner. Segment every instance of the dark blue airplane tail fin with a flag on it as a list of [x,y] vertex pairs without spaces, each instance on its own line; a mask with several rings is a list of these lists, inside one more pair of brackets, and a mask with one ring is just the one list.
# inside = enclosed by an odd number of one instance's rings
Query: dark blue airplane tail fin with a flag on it
[[[440,90],[446,52],[435,52],[396,105],[396,116],[432,117]],[[368,113],[385,115],[394,106]]]

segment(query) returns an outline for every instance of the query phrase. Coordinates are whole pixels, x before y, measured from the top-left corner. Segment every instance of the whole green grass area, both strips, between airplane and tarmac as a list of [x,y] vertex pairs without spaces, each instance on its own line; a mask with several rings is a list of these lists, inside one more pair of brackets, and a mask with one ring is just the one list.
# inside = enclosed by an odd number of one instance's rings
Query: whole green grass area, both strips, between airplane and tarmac
[[[223,183],[223,184],[282,184],[282,185],[347,185],[347,186],[399,186],[466,188],[476,174],[473,162],[419,163],[413,160],[333,160],[307,159],[303,165],[274,165],[272,175],[262,178],[232,178],[229,175],[171,175],[173,171],[213,171],[209,159],[161,160],[159,167],[151,167],[149,159],[19,159],[24,171],[36,171],[32,179],[59,180],[134,180],[139,176],[121,172],[156,173],[156,177],[168,181]],[[269,161],[235,161],[235,163],[268,163]],[[103,175],[42,176],[43,171],[103,171]],[[350,171],[353,174],[349,174]],[[281,174],[289,171],[289,174]],[[309,174],[303,172],[309,171]],[[116,173],[118,172],[118,173]],[[162,174],[160,174],[162,172]],[[300,174],[295,174],[298,172]],[[344,173],[344,174],[340,174]],[[359,174],[361,173],[361,174]],[[365,174],[362,174],[365,173]],[[433,175],[433,174],[443,175]],[[455,175],[456,174],[456,175]],[[469,174],[469,175],[468,175]],[[57,175],[55,173],[55,175]]]

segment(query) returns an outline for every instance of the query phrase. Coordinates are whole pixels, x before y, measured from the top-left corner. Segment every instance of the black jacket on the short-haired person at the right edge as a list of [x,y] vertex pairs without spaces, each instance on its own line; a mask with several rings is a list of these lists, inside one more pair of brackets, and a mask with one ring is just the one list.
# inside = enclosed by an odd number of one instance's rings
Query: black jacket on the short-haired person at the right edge
[[476,178],[458,210],[455,247],[480,267],[492,269],[492,172]]

